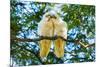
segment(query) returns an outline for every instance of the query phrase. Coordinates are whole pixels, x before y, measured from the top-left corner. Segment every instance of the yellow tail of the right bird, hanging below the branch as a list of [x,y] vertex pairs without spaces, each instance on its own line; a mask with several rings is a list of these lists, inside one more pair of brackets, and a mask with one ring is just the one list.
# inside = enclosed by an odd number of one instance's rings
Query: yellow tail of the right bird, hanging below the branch
[[65,45],[65,41],[62,40],[61,38],[58,38],[57,40],[54,41],[55,55],[58,58],[61,58],[64,56],[64,45]]

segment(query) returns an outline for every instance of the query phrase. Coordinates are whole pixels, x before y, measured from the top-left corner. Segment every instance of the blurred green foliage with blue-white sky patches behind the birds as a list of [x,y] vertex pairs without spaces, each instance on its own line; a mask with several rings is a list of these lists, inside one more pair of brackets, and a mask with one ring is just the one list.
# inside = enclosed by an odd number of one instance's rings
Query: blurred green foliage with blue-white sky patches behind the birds
[[[21,42],[13,38],[34,39],[37,37],[37,25],[49,7],[57,3],[39,3],[32,1],[10,0],[10,61],[11,66],[26,66],[39,64],[59,64],[95,61],[95,6],[79,4],[61,5],[62,19],[68,24],[68,41],[63,58],[57,58],[53,51],[43,62],[39,57],[38,42]],[[88,47],[83,47],[81,41]],[[53,49],[52,49],[53,50]]]

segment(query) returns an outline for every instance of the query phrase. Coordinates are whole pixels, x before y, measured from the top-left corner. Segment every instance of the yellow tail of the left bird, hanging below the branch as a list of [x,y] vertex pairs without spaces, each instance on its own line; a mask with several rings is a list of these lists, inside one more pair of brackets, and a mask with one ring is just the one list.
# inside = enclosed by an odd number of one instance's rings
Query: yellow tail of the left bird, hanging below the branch
[[51,40],[41,40],[40,41],[40,57],[47,57],[51,47]]

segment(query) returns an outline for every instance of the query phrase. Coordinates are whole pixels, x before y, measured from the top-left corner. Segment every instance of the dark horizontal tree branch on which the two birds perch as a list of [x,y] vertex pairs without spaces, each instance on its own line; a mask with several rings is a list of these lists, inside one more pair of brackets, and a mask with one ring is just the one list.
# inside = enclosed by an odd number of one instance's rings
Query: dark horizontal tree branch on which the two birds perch
[[66,42],[75,42],[75,43],[81,45],[81,46],[84,47],[84,48],[94,46],[94,43],[91,44],[91,45],[88,45],[88,44],[85,45],[85,44],[82,43],[80,40],[73,40],[73,39],[72,39],[72,40],[69,40],[69,39],[65,39],[65,38],[63,38],[63,37],[61,37],[61,36],[54,36],[54,37],[39,36],[39,37],[34,38],[34,39],[29,39],[29,38],[18,38],[18,37],[12,36],[12,37],[11,37],[11,41],[37,42],[37,41],[41,41],[41,40],[44,40],[44,39],[46,39],[46,40],[56,40],[56,39],[58,39],[58,38],[61,38],[61,39],[63,39],[63,40],[66,41]]

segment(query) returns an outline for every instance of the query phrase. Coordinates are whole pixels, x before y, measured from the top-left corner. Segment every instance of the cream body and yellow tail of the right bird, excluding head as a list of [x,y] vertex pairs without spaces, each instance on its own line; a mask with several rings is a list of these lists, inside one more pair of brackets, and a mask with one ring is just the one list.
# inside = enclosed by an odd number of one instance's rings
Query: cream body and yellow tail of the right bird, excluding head
[[[67,39],[67,24],[64,21],[57,22],[55,24],[55,36],[61,36],[65,39]],[[65,47],[65,41],[61,38],[58,38],[54,41],[55,46],[55,55],[58,58],[61,58],[64,56],[64,47]]]

